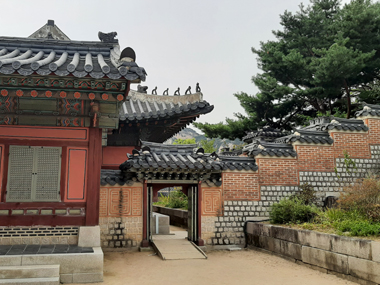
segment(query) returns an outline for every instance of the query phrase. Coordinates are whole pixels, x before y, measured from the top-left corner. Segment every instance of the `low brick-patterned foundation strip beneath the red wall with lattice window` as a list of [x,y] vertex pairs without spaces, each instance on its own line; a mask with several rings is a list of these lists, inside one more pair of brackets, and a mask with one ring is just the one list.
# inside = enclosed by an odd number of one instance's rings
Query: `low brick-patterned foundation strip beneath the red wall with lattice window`
[[77,244],[78,227],[0,227],[0,245]]

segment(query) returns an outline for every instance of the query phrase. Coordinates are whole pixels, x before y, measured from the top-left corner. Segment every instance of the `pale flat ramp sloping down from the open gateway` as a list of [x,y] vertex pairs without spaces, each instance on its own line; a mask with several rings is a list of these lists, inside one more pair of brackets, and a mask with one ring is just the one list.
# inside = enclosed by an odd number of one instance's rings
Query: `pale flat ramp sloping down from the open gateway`
[[153,240],[153,248],[163,260],[207,259],[207,255],[187,239]]

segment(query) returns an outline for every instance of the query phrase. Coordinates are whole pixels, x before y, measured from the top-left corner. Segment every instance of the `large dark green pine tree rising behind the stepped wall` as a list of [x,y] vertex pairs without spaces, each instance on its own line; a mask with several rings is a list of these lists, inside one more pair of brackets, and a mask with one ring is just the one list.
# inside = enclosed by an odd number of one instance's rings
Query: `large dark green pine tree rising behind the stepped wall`
[[380,3],[311,0],[294,14],[285,11],[280,24],[276,40],[252,48],[262,70],[252,77],[259,92],[234,94],[246,115],[195,123],[208,137],[242,137],[264,125],[291,129],[317,112],[349,118],[361,100],[380,99],[371,92],[379,78]]

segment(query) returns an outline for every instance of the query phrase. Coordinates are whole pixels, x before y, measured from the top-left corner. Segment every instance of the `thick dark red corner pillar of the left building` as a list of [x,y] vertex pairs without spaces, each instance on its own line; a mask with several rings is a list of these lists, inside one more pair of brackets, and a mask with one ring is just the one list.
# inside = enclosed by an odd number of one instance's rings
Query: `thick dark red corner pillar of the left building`
[[102,166],[102,129],[89,129],[86,226],[99,225],[100,170]]

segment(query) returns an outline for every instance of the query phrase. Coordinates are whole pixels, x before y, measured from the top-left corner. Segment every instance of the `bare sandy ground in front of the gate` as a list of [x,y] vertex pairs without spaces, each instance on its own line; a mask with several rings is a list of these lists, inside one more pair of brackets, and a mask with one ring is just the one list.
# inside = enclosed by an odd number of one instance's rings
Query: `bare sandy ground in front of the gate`
[[355,284],[255,250],[207,255],[207,260],[163,261],[152,252],[106,252],[103,284]]

